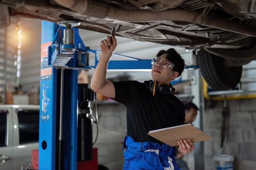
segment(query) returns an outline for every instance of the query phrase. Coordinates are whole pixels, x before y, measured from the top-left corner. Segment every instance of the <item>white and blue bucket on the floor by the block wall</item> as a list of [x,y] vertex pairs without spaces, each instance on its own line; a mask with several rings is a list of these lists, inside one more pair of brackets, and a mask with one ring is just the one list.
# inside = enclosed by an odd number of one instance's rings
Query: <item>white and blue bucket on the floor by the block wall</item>
[[234,156],[229,154],[219,154],[214,156],[216,170],[233,170]]

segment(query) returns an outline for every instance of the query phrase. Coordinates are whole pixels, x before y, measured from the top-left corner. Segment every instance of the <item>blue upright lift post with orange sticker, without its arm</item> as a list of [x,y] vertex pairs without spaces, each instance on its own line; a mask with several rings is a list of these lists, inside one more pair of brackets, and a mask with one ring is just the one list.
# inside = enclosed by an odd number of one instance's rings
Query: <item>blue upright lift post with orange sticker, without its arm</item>
[[[78,71],[56,69],[49,61],[48,47],[60,31],[58,24],[42,21],[39,170],[77,169]],[[69,61],[69,67],[75,64]]]

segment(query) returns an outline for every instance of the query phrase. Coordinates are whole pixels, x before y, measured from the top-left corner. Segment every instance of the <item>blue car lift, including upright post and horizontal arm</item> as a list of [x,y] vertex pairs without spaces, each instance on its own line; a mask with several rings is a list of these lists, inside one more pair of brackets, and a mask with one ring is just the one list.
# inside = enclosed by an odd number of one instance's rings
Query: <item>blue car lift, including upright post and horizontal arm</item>
[[[42,21],[39,170],[77,170],[78,70],[98,63],[98,51],[86,48],[73,28],[78,24]],[[88,52],[95,53],[94,66]],[[151,69],[151,60],[131,59],[109,61],[108,69]]]

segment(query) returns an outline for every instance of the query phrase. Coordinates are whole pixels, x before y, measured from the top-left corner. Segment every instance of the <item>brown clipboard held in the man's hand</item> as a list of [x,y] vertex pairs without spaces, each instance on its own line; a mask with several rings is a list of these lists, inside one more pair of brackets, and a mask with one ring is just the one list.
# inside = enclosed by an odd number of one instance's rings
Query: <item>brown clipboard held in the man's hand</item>
[[180,139],[190,139],[193,142],[213,139],[212,136],[207,135],[190,123],[149,131],[148,135],[169,146],[177,146],[177,141]]

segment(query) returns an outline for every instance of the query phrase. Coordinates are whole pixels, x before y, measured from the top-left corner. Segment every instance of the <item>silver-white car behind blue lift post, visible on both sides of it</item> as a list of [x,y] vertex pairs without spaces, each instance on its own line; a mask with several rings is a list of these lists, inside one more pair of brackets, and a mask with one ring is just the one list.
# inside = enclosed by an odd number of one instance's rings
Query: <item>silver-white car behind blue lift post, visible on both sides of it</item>
[[[93,136],[96,136],[94,125]],[[125,133],[98,127],[98,170],[121,170]],[[95,137],[94,137],[95,138]],[[0,105],[0,170],[31,169],[39,148],[39,105]]]

